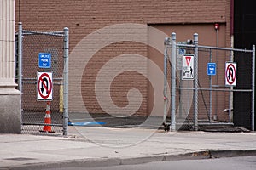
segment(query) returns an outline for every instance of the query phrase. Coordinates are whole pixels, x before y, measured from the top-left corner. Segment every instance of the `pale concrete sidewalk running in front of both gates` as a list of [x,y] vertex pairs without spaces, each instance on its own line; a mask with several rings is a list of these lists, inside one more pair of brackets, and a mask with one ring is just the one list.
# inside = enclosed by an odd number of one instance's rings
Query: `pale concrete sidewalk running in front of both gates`
[[0,169],[101,167],[256,155],[256,133],[69,127],[69,136],[0,134]]

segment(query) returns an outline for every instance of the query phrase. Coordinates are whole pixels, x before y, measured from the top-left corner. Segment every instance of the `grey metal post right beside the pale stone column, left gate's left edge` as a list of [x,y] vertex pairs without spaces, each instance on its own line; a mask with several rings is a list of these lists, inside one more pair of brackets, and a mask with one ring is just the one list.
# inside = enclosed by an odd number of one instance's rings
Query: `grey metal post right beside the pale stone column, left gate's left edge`
[[18,89],[22,92],[22,23],[19,22],[18,31]]

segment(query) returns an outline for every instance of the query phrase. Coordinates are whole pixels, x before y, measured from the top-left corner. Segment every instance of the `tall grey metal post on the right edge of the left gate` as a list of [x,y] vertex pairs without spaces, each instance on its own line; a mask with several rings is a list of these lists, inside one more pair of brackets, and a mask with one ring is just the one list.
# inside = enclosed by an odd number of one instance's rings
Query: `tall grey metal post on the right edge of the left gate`
[[63,70],[63,135],[68,133],[68,28],[64,28],[64,70]]

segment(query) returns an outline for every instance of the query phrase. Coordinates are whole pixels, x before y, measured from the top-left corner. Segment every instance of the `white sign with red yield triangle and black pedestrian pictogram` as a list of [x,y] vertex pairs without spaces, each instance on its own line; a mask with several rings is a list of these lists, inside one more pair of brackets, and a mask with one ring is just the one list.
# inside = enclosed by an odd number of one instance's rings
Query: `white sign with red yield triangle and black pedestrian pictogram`
[[183,80],[194,79],[194,55],[183,55]]

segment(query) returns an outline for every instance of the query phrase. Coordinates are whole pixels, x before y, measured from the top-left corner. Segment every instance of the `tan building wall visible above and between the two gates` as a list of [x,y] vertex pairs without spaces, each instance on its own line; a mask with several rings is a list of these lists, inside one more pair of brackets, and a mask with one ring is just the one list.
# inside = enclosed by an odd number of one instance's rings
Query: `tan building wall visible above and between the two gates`
[[[16,19],[19,17],[27,30],[55,31],[69,27],[70,111],[120,114],[134,111],[145,116],[153,110],[155,115],[162,115],[163,77],[152,74],[155,65],[152,66],[148,59],[162,68],[160,53],[164,50],[164,37],[176,31],[177,41],[183,41],[192,38],[197,32],[200,43],[215,45],[213,25],[220,23],[219,46],[230,47],[229,0],[26,0],[21,1],[20,11],[16,4]],[[153,51],[152,54],[148,46],[157,48],[159,52]],[[132,58],[134,56],[138,58]],[[154,59],[154,56],[160,60]],[[119,73],[114,68],[125,68],[127,71],[114,77],[114,72]],[[155,69],[159,70],[157,67]],[[112,83],[109,80],[113,80]],[[151,85],[148,80],[152,80]],[[148,86],[156,86],[154,95]],[[136,90],[129,92],[132,88],[139,89],[140,94]],[[109,102],[109,95],[113,103]],[[154,109],[153,103],[156,106]]]

